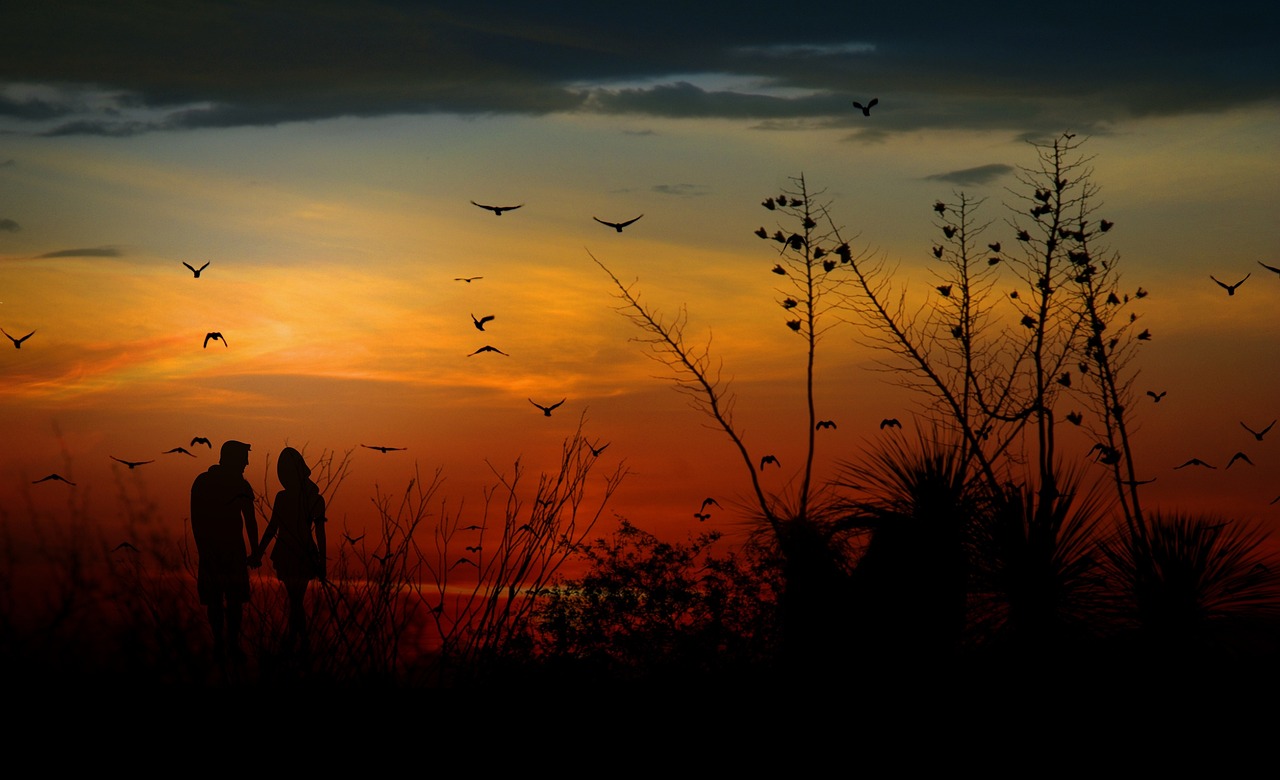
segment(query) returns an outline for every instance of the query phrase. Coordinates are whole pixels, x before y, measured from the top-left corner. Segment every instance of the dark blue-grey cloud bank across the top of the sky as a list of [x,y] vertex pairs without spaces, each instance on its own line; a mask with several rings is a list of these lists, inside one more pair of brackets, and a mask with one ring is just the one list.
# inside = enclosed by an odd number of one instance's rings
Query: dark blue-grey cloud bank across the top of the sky
[[1158,14],[1093,0],[995,0],[964,13],[937,0],[819,1],[804,13],[671,0],[63,0],[6,17],[0,73],[67,92],[0,85],[0,119],[128,136],[599,111],[777,129],[841,126],[851,99],[878,96],[869,119],[879,126],[859,133],[1080,129],[1280,99],[1277,20],[1280,6],[1236,0]]

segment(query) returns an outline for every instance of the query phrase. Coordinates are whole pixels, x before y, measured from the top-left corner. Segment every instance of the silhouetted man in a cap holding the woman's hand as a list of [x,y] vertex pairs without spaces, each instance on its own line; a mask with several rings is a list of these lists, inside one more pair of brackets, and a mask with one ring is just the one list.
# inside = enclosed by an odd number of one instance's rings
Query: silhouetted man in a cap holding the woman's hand
[[191,533],[198,557],[196,590],[209,612],[219,661],[228,647],[234,660],[243,658],[239,633],[250,596],[247,551],[257,548],[253,488],[244,479],[248,450],[244,442],[224,442],[218,462],[191,484]]

